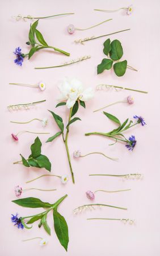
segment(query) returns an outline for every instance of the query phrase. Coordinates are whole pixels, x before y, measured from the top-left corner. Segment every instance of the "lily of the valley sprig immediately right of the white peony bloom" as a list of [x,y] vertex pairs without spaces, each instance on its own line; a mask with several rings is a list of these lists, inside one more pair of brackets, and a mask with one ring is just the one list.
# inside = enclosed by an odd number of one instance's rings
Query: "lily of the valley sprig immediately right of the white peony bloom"
[[121,90],[132,90],[133,92],[148,93],[145,90],[136,90],[132,88],[125,88],[123,86],[109,85],[109,84],[99,84],[96,86],[96,90],[115,90],[115,92],[121,92]]

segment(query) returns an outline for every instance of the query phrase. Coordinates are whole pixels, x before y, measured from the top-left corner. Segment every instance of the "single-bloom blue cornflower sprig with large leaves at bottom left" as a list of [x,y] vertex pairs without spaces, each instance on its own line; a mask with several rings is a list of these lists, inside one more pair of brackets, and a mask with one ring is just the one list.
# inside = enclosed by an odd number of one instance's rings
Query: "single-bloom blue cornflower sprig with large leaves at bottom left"
[[[34,214],[32,216],[24,216],[24,217],[19,217],[19,218],[18,218],[18,214],[16,214],[16,215],[12,214],[11,221],[18,228],[31,229],[32,226],[28,226],[28,224],[32,224],[35,221],[39,220],[40,221],[39,228],[41,226],[43,226],[45,231],[50,235],[51,232],[50,232],[50,227],[47,222],[47,216],[48,216],[49,212],[52,212],[53,213],[53,221],[54,221],[54,230],[56,232],[57,238],[60,241],[61,245],[67,251],[68,242],[69,242],[68,225],[66,223],[65,218],[57,210],[58,205],[60,205],[62,203],[62,201],[67,196],[68,195],[61,197],[54,204],[49,204],[47,202],[43,202],[40,199],[37,199],[35,197],[27,197],[24,199],[14,200],[14,201],[12,201],[13,203],[18,204],[22,207],[44,208],[45,211],[41,212],[41,213]],[[26,223],[26,220],[27,220],[27,223]]]

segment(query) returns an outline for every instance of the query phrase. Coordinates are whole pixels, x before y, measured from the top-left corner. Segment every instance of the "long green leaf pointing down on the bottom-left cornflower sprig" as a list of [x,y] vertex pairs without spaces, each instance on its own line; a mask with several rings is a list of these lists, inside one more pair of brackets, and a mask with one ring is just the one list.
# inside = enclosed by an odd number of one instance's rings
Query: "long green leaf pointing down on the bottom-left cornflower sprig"
[[56,209],[54,209],[53,219],[54,219],[54,230],[57,234],[58,240],[67,251],[69,236],[68,236],[68,225],[65,221],[65,218],[60,213],[58,213]]

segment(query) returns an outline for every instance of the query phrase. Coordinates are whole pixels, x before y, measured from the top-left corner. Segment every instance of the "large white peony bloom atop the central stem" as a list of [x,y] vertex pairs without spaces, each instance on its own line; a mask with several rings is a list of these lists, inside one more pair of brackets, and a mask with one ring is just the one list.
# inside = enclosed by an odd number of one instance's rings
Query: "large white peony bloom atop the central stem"
[[92,88],[84,90],[81,81],[77,79],[65,79],[64,82],[58,86],[58,89],[60,90],[58,101],[66,101],[66,106],[69,109],[73,107],[75,101],[78,99],[88,101],[94,97],[94,90]]

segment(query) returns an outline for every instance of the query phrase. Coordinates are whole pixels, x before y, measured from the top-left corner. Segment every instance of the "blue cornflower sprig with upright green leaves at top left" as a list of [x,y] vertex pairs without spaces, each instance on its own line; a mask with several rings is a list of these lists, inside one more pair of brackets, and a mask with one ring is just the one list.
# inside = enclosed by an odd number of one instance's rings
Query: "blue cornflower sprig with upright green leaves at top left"
[[45,42],[41,32],[36,29],[38,23],[39,23],[39,20],[36,20],[36,22],[34,22],[32,24],[32,26],[30,27],[30,31],[29,31],[29,35],[28,35],[29,41],[26,42],[26,44],[28,46],[31,46],[30,52],[22,53],[22,49],[20,47],[17,47],[15,49],[14,54],[16,56],[16,59],[14,60],[14,62],[17,65],[22,66],[24,57],[28,56],[28,59],[31,59],[31,57],[33,56],[33,54],[35,52],[40,51],[41,49],[46,49],[46,48],[53,49],[54,51],[63,53],[64,55],[67,55],[67,56],[70,55],[70,53],[63,51],[62,49],[58,49],[56,47],[49,46]]

